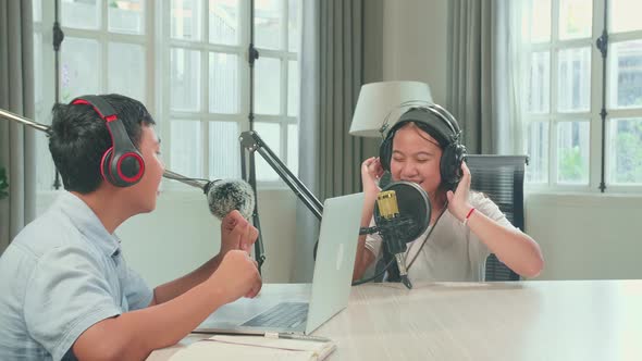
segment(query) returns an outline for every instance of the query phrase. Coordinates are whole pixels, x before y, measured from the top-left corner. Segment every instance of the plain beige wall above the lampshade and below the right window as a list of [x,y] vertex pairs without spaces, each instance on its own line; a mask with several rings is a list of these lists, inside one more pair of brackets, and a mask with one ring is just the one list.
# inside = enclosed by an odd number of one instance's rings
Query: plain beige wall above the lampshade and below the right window
[[[447,0],[384,0],[385,80],[427,82],[447,96]],[[527,232],[541,245],[539,279],[642,278],[642,196],[530,194]]]

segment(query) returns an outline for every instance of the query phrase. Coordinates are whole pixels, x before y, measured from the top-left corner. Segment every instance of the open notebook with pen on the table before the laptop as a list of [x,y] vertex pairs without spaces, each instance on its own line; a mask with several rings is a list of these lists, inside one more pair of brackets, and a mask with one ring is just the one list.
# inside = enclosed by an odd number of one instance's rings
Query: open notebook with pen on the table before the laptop
[[196,341],[174,353],[171,361],[199,361],[212,358],[231,360],[323,360],[336,346],[299,339],[267,338],[261,336],[215,335]]

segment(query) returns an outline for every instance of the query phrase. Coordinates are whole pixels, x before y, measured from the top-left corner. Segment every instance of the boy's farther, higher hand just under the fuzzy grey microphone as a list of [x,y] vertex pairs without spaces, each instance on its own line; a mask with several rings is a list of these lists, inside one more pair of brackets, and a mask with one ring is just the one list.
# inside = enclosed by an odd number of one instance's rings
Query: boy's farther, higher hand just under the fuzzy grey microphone
[[242,250],[249,254],[251,246],[259,237],[259,231],[240,212],[230,212],[221,222],[221,256],[231,250]]

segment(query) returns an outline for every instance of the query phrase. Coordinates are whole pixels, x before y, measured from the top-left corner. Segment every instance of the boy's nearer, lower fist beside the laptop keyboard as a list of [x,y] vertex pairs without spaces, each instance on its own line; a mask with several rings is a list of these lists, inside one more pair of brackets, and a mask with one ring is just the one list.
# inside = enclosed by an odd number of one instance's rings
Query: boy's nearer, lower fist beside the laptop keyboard
[[244,296],[254,298],[262,286],[257,262],[242,250],[231,250],[225,253],[208,283],[221,289],[221,300],[225,303]]

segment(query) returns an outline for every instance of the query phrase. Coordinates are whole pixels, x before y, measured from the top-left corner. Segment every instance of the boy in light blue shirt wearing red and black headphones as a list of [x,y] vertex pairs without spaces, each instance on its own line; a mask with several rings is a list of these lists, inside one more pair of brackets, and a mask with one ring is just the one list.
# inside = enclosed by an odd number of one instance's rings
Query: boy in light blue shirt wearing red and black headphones
[[113,233],[156,208],[164,166],[153,125],[118,95],[54,107],[49,149],[66,191],[0,258],[1,360],[141,360],[260,290],[248,257],[258,232],[237,211],[222,222],[219,254],[194,272],[151,290],[127,267]]

